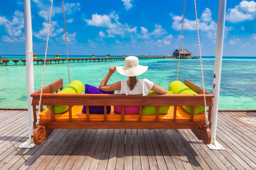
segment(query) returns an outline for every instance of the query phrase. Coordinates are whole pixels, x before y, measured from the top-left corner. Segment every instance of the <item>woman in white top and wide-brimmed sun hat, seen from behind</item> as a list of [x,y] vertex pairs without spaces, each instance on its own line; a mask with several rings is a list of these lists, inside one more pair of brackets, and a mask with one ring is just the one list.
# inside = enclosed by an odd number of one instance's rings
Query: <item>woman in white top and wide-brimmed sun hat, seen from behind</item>
[[[142,94],[147,96],[149,90],[156,91],[159,94],[166,94],[167,91],[161,86],[157,86],[148,79],[137,79],[137,76],[146,72],[147,66],[139,65],[138,57],[129,56],[125,59],[125,65],[122,67],[112,66],[110,71],[107,73],[104,79],[102,79],[99,89],[101,91],[117,91],[117,94]],[[112,74],[116,71],[128,77],[125,81],[117,81],[113,84],[107,85],[107,81],[110,79]]]

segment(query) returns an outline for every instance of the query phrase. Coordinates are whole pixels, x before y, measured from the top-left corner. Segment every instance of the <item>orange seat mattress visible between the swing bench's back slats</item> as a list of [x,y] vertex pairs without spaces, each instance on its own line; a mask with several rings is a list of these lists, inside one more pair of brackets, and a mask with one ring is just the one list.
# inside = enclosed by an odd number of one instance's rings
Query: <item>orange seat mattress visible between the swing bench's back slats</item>
[[[111,112],[107,114],[107,121],[121,121],[122,114],[114,113],[113,107],[111,108]],[[81,113],[82,106],[73,106],[72,107],[72,119],[73,121],[86,121],[86,113]],[[177,115],[176,121],[190,121],[191,114],[188,114],[181,106],[177,107]],[[167,114],[159,115],[159,121],[173,121],[174,119],[174,106],[169,108]],[[51,114],[48,108],[40,113],[40,120],[47,121],[51,120]],[[69,120],[69,111],[65,111],[62,114],[54,115],[55,121],[67,121]],[[205,115],[204,113],[194,115],[194,121],[204,121]],[[90,121],[104,121],[104,114],[91,114],[90,113]],[[139,121],[139,114],[125,114],[124,121]],[[156,121],[156,115],[142,115],[142,121]]]

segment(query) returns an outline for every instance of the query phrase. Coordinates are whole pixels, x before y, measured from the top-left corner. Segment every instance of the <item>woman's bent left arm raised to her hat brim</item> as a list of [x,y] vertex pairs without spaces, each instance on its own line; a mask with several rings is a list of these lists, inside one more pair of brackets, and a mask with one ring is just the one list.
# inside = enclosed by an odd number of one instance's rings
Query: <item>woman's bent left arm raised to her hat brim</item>
[[113,84],[107,85],[107,81],[109,81],[110,77],[112,76],[112,74],[114,74],[116,69],[117,69],[117,66],[110,67],[110,71],[107,73],[104,79],[102,79],[102,81],[100,82],[99,89],[101,91],[116,91],[121,89],[121,81],[117,81]]

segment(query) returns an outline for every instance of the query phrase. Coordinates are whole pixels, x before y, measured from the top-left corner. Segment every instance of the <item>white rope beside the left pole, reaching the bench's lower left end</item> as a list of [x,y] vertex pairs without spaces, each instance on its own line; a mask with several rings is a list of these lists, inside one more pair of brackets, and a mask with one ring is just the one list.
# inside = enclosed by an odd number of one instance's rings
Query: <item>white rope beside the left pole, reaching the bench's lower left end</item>
[[[53,0],[51,0],[51,4],[50,4],[50,18],[51,18],[52,10],[53,10]],[[48,40],[49,40],[49,34],[50,34],[50,18],[49,18],[49,24],[48,24],[47,40],[46,40],[46,54],[45,54],[44,63],[43,63],[43,78],[44,78],[45,69],[46,69],[46,56],[47,56]],[[42,94],[43,94],[43,79],[42,79],[42,84],[41,84],[41,92],[40,92],[40,99],[39,99],[39,106],[38,106],[39,108],[38,108],[38,112],[36,114],[36,118],[37,118],[36,127],[38,127],[39,120],[40,120],[39,113],[41,113]]]

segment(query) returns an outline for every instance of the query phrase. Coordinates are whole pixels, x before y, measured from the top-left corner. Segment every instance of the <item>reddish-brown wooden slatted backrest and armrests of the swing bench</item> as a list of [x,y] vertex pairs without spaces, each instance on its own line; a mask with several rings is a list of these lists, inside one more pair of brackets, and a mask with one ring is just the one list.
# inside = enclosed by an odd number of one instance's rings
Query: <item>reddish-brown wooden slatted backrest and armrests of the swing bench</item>
[[[126,96],[123,94],[56,94],[63,89],[63,79],[53,82],[43,88],[41,111],[43,106],[51,107],[51,122],[54,122],[54,106],[68,106],[69,122],[72,122],[72,106],[87,106],[87,122],[90,122],[90,113],[88,106],[104,106],[104,122],[107,122],[107,106],[122,106],[122,119],[124,122],[124,106],[139,106],[139,123],[142,123],[142,106],[156,106],[156,122],[159,122],[159,106],[174,106],[174,120],[176,122],[177,106],[191,106],[191,123],[193,122],[193,108],[195,106],[204,106],[203,89],[185,79],[186,86],[196,91],[198,94],[166,94],[166,95],[132,95]],[[38,106],[41,91],[36,91],[31,94],[33,97],[32,106],[34,114],[34,123],[36,123],[36,106]],[[209,119],[211,106],[213,106],[213,94],[206,91],[206,106],[209,106]],[[95,122],[90,122],[95,123]],[[97,124],[97,123],[95,123]],[[153,123],[154,124],[154,123]],[[151,125],[153,125],[151,123]],[[102,125],[102,124],[99,124]],[[156,125],[155,128],[163,128]],[[192,125],[192,124],[191,124]],[[198,125],[206,125],[204,121],[197,122]],[[154,126],[154,125],[153,125]],[[136,126],[137,127],[137,126]],[[181,128],[183,125],[180,126]],[[184,126],[186,127],[186,126]],[[184,128],[183,127],[183,128]],[[106,127],[105,127],[106,128]],[[141,127],[142,128],[142,127]],[[152,127],[153,128],[153,127]],[[173,127],[174,128],[174,127]],[[190,128],[196,128],[191,126]]]

